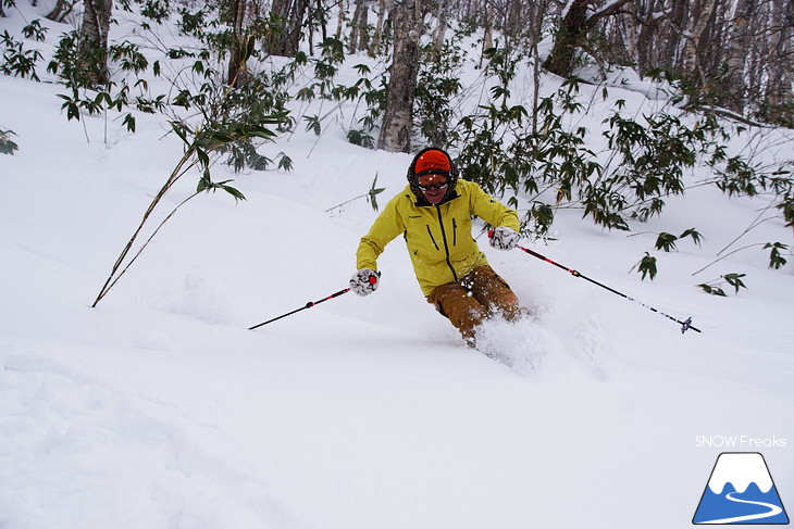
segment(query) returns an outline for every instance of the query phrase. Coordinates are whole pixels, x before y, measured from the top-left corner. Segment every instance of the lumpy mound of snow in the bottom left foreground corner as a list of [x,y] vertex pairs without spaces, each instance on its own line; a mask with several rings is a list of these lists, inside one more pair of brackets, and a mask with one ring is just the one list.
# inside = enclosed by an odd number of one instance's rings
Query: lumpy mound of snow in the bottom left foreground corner
[[212,426],[57,362],[4,364],[0,527],[300,527],[261,477],[213,453]]

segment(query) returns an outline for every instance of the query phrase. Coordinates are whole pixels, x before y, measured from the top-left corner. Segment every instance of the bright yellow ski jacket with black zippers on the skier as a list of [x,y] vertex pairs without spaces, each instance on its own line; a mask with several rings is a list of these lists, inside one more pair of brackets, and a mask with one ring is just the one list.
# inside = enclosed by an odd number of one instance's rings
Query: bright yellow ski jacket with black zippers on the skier
[[419,286],[424,295],[430,295],[436,287],[462,279],[487,264],[471,235],[472,215],[497,227],[519,230],[518,213],[474,182],[459,179],[452,196],[438,205],[417,205],[417,197],[406,186],[361,238],[357,267],[376,270],[377,257],[386,244],[402,235]]

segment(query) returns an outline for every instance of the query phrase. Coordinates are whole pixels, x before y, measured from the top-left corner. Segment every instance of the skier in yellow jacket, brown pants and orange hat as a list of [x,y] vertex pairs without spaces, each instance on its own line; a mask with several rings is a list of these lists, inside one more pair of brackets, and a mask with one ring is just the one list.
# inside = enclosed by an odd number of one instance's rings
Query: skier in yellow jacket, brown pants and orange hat
[[492,268],[472,237],[472,215],[495,229],[491,245],[511,250],[519,241],[518,214],[475,182],[458,178],[449,155],[436,148],[419,152],[408,167],[408,186],[394,197],[361,238],[358,270],[350,289],[368,295],[377,289],[377,257],[397,236],[406,239],[422,292],[475,347],[476,328],[495,313],[514,322],[529,314]]

